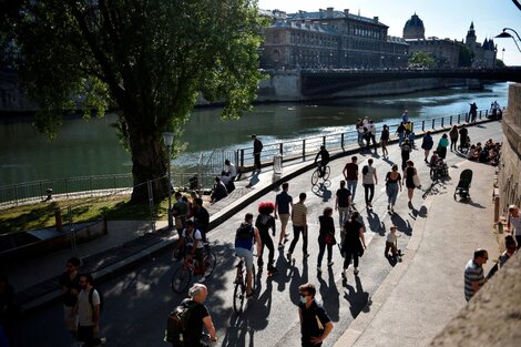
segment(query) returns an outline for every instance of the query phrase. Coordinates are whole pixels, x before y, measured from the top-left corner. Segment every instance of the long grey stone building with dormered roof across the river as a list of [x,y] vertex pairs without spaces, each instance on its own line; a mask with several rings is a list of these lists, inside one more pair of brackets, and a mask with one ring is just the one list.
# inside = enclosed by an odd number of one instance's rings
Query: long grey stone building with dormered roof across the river
[[265,31],[263,69],[378,69],[407,67],[409,45],[387,35],[378,20],[335,11],[272,11]]

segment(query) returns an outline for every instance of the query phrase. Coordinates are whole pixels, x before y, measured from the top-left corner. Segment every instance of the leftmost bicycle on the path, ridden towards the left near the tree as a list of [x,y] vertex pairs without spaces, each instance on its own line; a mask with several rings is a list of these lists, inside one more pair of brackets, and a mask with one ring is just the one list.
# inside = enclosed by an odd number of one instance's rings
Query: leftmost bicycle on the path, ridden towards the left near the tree
[[[172,275],[172,290],[175,293],[183,293],[190,286],[192,282],[192,276],[195,274],[197,264],[195,263],[196,259],[190,254],[186,254],[183,257],[183,264],[174,271]],[[217,263],[217,257],[215,253],[211,249],[210,244],[204,244],[204,257],[203,261],[205,262],[205,273],[204,278],[212,275],[215,269],[215,264]]]

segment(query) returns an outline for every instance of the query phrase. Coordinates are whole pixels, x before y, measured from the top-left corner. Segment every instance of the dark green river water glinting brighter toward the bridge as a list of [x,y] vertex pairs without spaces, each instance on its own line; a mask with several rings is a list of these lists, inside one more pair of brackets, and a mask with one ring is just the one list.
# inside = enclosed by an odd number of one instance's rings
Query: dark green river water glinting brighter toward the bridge
[[[306,103],[256,105],[237,121],[224,122],[218,109],[194,111],[183,135],[186,151],[177,164],[193,163],[200,152],[252,145],[251,135],[264,143],[329,134],[354,129],[358,118],[376,123],[399,122],[405,109],[412,122],[469,111],[476,102],[487,110],[498,101],[507,105],[508,83],[426,91],[398,96],[341,99]],[[24,118],[3,118],[0,123],[0,185],[90,175],[125,174],[132,170],[130,154],[116,141],[114,114],[104,119],[69,119],[58,137],[49,142]]]

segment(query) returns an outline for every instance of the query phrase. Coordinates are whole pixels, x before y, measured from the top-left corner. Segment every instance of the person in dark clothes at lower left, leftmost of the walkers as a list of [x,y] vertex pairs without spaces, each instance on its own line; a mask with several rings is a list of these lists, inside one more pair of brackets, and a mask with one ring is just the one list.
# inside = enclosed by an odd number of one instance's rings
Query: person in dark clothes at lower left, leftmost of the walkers
[[65,326],[72,336],[76,338],[78,333],[78,315],[72,315],[72,310],[78,303],[80,294],[80,259],[71,257],[67,261],[65,272],[60,276],[60,287],[62,289],[63,317]]

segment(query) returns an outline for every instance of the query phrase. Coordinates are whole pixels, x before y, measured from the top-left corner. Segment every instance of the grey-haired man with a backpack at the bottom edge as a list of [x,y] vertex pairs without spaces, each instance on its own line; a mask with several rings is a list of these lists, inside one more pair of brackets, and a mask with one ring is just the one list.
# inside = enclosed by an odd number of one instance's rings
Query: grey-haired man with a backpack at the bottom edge
[[[183,333],[183,346],[184,347],[203,347],[201,337],[203,336],[203,328],[210,334],[212,341],[217,341],[217,334],[215,331],[212,316],[210,315],[208,308],[204,305],[208,296],[208,288],[201,283],[194,284],[188,289],[190,298],[183,300],[190,310],[190,315],[186,317],[186,329]],[[178,346],[173,346],[178,347]]]

